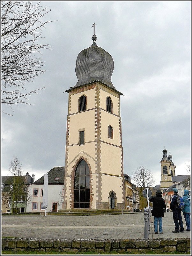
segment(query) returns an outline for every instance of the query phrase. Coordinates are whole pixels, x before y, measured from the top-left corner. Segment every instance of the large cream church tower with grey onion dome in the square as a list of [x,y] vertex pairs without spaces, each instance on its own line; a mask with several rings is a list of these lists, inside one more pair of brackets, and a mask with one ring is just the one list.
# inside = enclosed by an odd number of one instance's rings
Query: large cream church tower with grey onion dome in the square
[[78,54],[70,87],[64,209],[120,209],[125,204],[120,95],[111,55],[93,44]]

